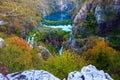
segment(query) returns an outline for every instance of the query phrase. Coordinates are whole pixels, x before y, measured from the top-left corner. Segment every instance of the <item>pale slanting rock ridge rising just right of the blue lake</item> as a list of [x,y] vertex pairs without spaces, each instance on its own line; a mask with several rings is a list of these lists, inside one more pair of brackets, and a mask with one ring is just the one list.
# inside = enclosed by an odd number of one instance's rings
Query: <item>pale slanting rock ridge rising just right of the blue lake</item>
[[82,25],[78,25],[82,22],[84,22],[87,18],[87,15],[89,13],[89,11],[92,8],[92,2],[91,1],[85,1],[83,6],[79,9],[77,15],[74,18],[74,24],[73,24],[73,34],[75,35],[77,32],[85,32],[85,27],[83,27]]

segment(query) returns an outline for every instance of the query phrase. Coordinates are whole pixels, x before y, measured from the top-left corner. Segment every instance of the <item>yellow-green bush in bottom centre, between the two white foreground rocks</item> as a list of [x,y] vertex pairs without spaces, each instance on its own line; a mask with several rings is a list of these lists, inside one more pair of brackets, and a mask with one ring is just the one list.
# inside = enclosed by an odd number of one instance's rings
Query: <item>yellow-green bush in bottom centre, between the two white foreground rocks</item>
[[85,65],[85,61],[80,56],[64,51],[61,56],[54,56],[45,61],[43,69],[63,79],[71,71],[80,70]]

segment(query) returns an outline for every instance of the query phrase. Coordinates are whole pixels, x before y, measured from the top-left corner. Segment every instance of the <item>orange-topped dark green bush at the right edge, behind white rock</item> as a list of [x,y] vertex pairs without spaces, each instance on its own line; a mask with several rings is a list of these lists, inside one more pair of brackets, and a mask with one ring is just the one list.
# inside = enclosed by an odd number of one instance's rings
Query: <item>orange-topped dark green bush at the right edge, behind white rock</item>
[[93,64],[97,68],[111,73],[111,75],[118,75],[120,72],[120,55],[104,40],[98,41],[93,48],[85,51],[82,57],[88,64]]

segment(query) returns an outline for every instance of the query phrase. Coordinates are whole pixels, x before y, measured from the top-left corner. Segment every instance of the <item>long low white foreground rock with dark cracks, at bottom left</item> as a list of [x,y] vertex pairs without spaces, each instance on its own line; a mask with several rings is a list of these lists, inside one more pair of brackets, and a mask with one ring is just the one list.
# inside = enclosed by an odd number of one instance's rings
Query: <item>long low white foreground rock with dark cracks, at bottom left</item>
[[[60,80],[43,70],[29,70],[7,75],[8,80]],[[1,79],[0,79],[1,80]]]

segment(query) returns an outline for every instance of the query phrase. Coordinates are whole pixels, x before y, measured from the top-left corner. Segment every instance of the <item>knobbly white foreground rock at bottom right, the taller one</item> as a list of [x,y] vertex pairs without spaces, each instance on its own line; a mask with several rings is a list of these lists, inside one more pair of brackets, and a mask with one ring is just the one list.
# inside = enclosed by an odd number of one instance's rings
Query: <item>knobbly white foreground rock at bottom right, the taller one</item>
[[69,73],[67,80],[113,80],[108,73],[97,70],[95,66],[88,65],[81,69],[81,72],[74,71]]

